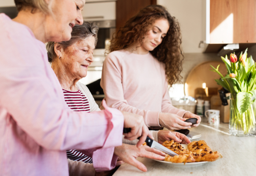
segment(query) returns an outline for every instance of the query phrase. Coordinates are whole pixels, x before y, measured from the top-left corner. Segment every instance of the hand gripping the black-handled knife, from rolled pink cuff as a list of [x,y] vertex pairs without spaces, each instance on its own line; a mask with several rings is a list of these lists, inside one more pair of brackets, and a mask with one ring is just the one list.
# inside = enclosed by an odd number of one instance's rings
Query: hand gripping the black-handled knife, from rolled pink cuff
[[121,111],[124,115],[124,128],[131,128],[131,132],[124,133],[125,139],[134,140],[140,137],[137,147],[142,145],[147,136],[154,139],[152,134],[149,132],[148,127],[144,123],[143,116]]

